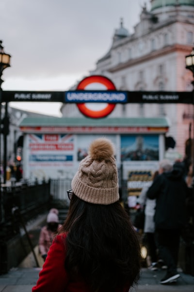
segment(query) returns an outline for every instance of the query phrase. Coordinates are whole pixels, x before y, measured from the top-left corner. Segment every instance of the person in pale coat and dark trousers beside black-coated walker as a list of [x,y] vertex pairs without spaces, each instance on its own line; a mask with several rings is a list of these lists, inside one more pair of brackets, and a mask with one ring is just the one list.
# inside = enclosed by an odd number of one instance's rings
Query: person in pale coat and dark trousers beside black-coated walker
[[[153,174],[153,181],[159,175],[159,171],[155,171]],[[151,185],[152,182],[150,182]],[[139,196],[139,203],[142,208],[145,208],[145,223],[144,223],[144,236],[146,237],[146,245],[148,256],[150,257],[151,264],[149,269],[152,271],[158,270],[158,252],[155,240],[155,223],[154,214],[156,207],[156,200],[150,200],[147,198],[147,190],[150,185],[145,186]]]

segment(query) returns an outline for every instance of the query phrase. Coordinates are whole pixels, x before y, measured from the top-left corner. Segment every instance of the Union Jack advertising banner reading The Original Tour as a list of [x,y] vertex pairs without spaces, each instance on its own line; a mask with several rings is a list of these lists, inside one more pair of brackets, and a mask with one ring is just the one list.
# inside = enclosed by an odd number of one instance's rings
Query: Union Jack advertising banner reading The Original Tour
[[66,176],[73,167],[74,135],[28,134],[27,175],[49,179]]

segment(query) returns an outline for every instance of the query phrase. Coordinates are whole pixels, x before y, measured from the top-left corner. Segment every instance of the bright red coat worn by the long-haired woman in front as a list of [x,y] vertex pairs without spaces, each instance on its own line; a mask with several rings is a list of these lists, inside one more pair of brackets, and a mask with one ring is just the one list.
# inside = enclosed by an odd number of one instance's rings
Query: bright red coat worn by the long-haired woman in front
[[[70,281],[65,270],[66,234],[57,235],[53,241],[39,279],[32,292],[91,292],[84,281]],[[128,292],[129,288],[125,292]]]

